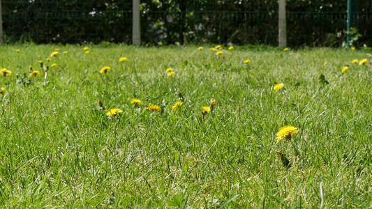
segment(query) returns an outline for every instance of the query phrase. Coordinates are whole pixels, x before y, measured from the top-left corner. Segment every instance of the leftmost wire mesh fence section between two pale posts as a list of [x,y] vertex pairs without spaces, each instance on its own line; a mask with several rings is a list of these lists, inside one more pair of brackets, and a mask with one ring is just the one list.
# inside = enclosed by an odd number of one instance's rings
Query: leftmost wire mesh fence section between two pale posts
[[130,42],[132,4],[2,0],[8,42]]

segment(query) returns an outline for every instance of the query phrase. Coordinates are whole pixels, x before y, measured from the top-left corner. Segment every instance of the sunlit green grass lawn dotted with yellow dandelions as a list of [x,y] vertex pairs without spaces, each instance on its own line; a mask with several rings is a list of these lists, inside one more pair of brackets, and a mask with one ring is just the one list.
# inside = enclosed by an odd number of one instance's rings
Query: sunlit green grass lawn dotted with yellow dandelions
[[[12,72],[0,79],[1,207],[372,207],[371,52],[225,47],[222,59],[209,47],[1,46]],[[40,60],[57,63],[47,79]],[[27,84],[29,65],[40,76]],[[107,117],[111,108],[123,113]],[[284,125],[300,130],[302,157],[276,142]]]

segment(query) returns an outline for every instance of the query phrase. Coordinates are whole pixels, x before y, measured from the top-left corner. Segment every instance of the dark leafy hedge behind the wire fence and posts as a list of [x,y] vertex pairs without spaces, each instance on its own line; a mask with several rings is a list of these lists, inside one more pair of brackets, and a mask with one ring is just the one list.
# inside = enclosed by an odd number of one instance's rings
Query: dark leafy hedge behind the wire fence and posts
[[[6,41],[131,43],[132,0],[2,0]],[[347,1],[287,1],[288,44],[338,47]],[[355,0],[354,26],[372,45],[372,0]],[[278,44],[278,1],[142,0],[142,42]]]

